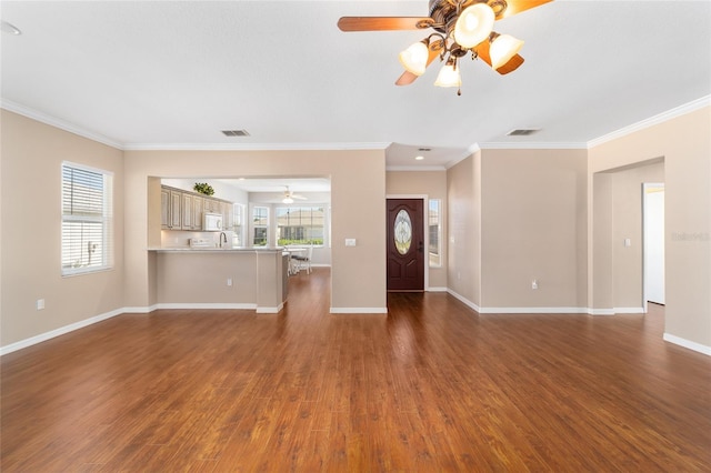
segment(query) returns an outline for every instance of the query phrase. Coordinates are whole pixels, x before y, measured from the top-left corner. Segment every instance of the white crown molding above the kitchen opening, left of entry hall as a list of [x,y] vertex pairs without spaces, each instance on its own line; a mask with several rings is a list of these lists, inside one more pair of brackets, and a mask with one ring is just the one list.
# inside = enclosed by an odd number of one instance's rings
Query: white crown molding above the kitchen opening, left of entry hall
[[391,143],[130,143],[126,151],[333,151],[385,150]]

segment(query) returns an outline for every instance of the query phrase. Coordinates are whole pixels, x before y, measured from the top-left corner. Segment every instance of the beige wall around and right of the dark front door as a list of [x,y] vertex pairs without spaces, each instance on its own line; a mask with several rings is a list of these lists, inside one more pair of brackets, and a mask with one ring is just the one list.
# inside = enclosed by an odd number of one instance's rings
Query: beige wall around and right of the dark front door
[[[388,171],[385,173],[385,193],[388,195],[424,194],[428,199],[441,200],[442,265],[440,268],[428,266],[427,271],[429,271],[428,288],[447,288],[447,172]],[[424,208],[427,219],[427,202]],[[427,225],[427,221],[424,224]]]

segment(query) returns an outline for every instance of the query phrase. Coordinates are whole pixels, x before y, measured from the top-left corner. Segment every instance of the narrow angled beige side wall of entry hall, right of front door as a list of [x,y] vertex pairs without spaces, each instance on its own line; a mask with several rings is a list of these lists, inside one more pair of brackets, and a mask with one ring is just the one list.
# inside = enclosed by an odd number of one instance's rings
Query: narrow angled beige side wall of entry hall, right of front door
[[447,170],[448,288],[481,305],[481,153]]

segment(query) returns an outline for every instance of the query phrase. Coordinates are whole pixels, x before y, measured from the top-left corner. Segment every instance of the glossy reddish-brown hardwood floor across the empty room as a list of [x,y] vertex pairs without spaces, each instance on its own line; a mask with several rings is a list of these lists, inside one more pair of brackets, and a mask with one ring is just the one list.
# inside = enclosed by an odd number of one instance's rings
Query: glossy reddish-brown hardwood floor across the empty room
[[2,358],[3,472],[701,472],[711,359],[648,315],[124,314]]

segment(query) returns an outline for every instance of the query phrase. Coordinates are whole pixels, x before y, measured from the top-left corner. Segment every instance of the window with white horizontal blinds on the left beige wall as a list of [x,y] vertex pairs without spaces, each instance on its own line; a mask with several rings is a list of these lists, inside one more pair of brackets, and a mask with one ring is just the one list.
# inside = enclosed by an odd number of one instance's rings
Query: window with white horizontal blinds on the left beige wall
[[62,163],[62,275],[112,266],[112,180],[110,172]]

